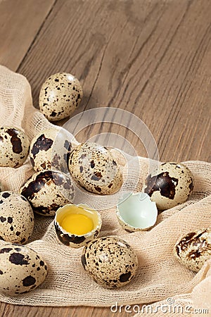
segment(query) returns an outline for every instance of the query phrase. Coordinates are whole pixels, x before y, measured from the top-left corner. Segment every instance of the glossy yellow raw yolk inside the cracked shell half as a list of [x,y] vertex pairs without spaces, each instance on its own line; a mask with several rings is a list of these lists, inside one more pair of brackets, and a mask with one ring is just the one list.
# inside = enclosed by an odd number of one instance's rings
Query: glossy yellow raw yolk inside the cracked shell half
[[63,218],[60,225],[73,235],[85,235],[94,228],[93,221],[81,213],[70,213]]

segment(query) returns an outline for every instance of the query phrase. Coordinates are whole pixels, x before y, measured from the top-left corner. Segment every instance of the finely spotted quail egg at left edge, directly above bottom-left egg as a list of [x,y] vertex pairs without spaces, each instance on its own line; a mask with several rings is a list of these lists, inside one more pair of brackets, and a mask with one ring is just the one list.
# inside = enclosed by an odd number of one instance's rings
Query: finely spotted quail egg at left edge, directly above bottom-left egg
[[34,213],[30,203],[15,192],[0,193],[0,239],[24,243],[32,235]]

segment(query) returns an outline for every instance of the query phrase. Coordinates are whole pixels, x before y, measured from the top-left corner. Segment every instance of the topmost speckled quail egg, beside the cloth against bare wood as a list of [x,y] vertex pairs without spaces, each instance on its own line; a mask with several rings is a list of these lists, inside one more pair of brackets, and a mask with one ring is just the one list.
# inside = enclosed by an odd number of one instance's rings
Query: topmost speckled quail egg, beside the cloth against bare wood
[[39,93],[39,108],[49,121],[70,116],[83,96],[77,78],[68,73],[56,73],[46,79]]

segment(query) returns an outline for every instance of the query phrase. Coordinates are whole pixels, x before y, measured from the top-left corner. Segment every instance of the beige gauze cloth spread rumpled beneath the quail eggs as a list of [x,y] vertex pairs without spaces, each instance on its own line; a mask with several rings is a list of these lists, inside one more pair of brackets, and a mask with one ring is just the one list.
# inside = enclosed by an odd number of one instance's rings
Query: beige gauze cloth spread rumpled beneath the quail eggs
[[[22,128],[30,140],[40,130],[55,127],[32,106],[30,84],[26,78],[2,66],[0,108],[0,125]],[[148,160],[140,157],[139,163],[140,178],[136,191],[141,191],[148,173]],[[141,304],[166,301],[171,297],[182,306],[208,308],[211,314],[211,261],[194,273],[182,266],[172,254],[179,237],[192,230],[211,227],[211,164],[203,161],[184,163],[195,178],[193,194],[186,203],[160,213],[151,230],[128,233],[117,222],[115,208],[100,211],[103,220],[100,237],[121,237],[136,250],[139,269],[131,283],[116,290],[107,290],[96,284],[80,262],[82,248],[71,249],[58,242],[53,218],[35,215],[34,232],[27,246],[44,257],[49,265],[49,274],[37,290],[18,297],[0,294],[1,302],[41,306],[112,306],[117,303],[139,304],[141,307]],[[124,173],[124,166],[122,169]],[[18,192],[32,173],[30,160],[27,159],[19,168],[0,168],[0,180],[5,189]],[[93,197],[97,199],[96,195]],[[4,244],[6,242],[0,241],[0,246]],[[155,313],[155,316],[162,315],[174,316],[171,313]],[[189,313],[186,315],[190,316]],[[138,313],[136,316],[145,315]]]

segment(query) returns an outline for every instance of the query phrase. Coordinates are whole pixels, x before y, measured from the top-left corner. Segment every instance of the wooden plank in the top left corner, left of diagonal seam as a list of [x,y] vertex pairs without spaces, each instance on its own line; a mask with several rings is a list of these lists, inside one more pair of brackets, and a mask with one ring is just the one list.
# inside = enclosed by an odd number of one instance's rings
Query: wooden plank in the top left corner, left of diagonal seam
[[54,0],[0,1],[0,64],[16,70]]

